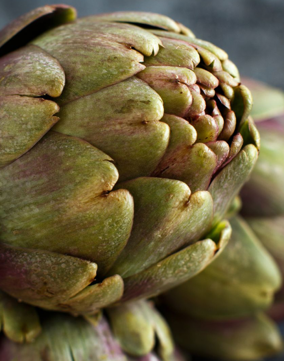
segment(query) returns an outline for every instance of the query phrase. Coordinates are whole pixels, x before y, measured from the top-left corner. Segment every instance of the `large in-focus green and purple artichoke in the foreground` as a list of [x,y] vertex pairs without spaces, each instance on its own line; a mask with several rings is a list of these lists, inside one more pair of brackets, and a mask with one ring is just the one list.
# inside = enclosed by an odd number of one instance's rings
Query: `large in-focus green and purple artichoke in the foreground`
[[0,33],[0,289],[88,315],[221,252],[259,134],[220,48],[162,15],[75,18],[46,6]]

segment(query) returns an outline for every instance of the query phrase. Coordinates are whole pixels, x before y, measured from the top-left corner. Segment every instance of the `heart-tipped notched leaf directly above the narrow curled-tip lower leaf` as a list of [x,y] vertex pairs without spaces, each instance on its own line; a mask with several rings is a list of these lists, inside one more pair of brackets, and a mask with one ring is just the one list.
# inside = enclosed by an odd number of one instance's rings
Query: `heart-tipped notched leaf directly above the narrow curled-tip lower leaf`
[[208,192],[191,194],[180,180],[140,177],[120,183],[134,199],[130,238],[109,271],[123,278],[142,271],[208,232],[212,199]]

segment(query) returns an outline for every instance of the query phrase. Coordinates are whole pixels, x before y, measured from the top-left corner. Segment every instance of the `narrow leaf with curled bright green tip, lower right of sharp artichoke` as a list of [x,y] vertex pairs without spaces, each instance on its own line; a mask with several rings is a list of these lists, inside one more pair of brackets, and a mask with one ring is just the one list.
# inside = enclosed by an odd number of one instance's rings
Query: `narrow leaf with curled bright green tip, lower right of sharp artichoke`
[[229,223],[220,223],[209,236],[213,240],[208,238],[198,241],[148,269],[124,278],[121,301],[158,295],[201,272],[226,247],[231,236]]

